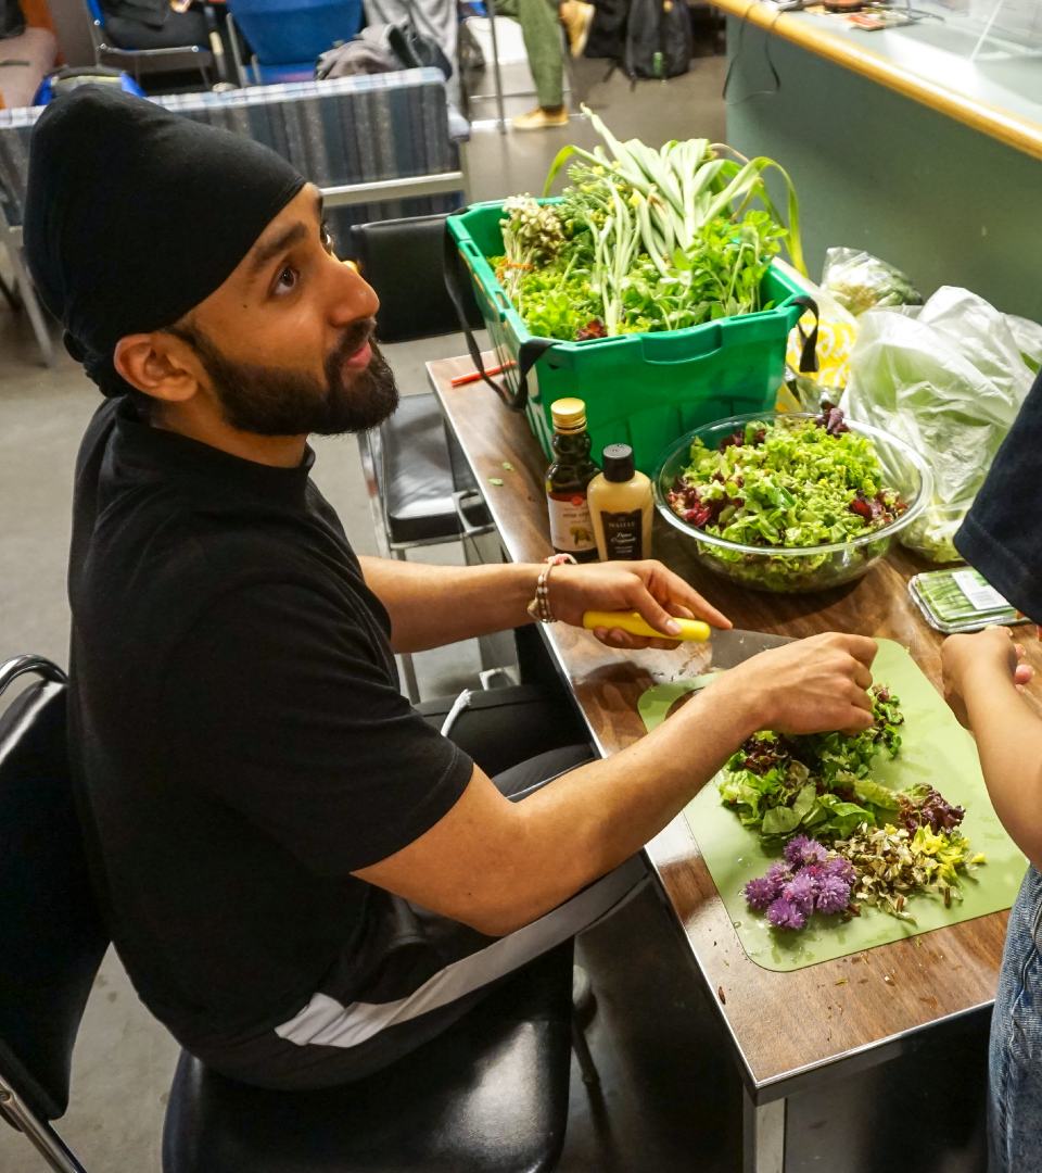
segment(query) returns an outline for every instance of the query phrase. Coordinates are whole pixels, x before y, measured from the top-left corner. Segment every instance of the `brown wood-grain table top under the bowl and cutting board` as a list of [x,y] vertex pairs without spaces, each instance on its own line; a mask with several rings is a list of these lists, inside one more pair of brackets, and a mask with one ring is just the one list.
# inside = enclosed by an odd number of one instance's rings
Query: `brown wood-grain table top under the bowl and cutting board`
[[[428,364],[431,386],[474,468],[506,552],[516,562],[542,561],[551,552],[543,486],[546,461],[525,418],[503,407],[483,382],[450,386],[454,375],[471,369],[469,358]],[[512,470],[503,467],[504,461]],[[502,480],[502,487],[490,477]],[[775,596],[741,590],[702,570],[686,540],[661,520],[656,520],[654,552],[736,628],[785,636],[830,629],[886,636],[905,644],[927,677],[934,684],[939,680],[940,637],[921,618],[905,586],[925,568],[905,554],[892,554],[847,588]],[[1021,631],[1028,659],[1042,667],[1034,628]],[[636,699],[654,683],[652,673],[672,674],[706,655],[706,645],[617,652],[588,632],[561,624],[546,633],[605,755],[643,734]],[[908,1032],[994,999],[1006,913],[778,974],[761,969],[743,951],[683,816],[647,852],[760,1101],[786,1094],[801,1073],[818,1071],[820,1078],[819,1069],[839,1060],[869,1060],[867,1052],[899,1045]]]

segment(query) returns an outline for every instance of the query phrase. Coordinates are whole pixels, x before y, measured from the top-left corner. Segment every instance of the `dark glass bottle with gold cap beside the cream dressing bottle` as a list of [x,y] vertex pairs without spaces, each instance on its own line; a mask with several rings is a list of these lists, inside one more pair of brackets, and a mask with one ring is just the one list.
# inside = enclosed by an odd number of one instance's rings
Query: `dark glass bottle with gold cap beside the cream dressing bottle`
[[546,469],[550,541],[557,554],[571,554],[577,562],[597,562],[586,488],[600,469],[590,455],[586,405],[581,399],[558,399],[550,414],[551,447],[557,456]]

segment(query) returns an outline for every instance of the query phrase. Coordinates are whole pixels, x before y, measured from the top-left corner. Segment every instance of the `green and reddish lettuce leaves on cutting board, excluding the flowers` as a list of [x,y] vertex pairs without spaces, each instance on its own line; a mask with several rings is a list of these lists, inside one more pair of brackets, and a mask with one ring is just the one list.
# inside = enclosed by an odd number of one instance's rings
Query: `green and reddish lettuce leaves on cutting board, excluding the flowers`
[[867,823],[883,826],[900,809],[895,791],[869,777],[877,753],[897,757],[904,723],[899,700],[872,690],[872,726],[856,737],[755,733],[723,769],[720,796],[747,827],[765,838],[797,830],[844,838]]

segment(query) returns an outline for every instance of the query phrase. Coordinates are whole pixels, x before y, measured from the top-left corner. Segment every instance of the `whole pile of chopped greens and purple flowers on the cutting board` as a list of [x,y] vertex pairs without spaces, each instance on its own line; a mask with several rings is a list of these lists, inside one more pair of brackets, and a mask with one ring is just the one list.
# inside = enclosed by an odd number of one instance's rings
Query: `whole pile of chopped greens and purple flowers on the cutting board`
[[960,830],[962,807],[931,786],[894,791],[870,777],[877,754],[900,752],[904,724],[884,685],[872,689],[872,712],[856,737],[756,733],[724,767],[723,802],[765,840],[784,842],[784,857],[744,887],[775,928],[802,929],[813,913],[857,916],[860,903],[914,920],[910,896],[947,906],[961,899],[960,874],[985,861]]

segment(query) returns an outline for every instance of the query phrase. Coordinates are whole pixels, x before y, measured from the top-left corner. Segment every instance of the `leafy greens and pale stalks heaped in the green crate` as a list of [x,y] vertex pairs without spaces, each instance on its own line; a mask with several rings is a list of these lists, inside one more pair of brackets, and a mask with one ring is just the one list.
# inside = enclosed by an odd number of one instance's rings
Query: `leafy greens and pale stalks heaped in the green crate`
[[[783,243],[803,270],[798,204],[785,172],[768,158],[721,157],[728,148],[706,138],[661,151],[635,138],[621,143],[586,114],[611,158],[604,147],[566,147],[545,191],[572,156],[580,162],[568,167],[559,203],[531,196],[504,203],[504,251],[490,260],[529,330],[584,341],[771,308],[761,286]],[[788,226],[763,179],[770,168],[788,187]],[[762,210],[749,208],[754,199]]]

